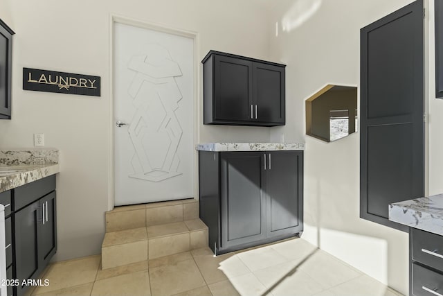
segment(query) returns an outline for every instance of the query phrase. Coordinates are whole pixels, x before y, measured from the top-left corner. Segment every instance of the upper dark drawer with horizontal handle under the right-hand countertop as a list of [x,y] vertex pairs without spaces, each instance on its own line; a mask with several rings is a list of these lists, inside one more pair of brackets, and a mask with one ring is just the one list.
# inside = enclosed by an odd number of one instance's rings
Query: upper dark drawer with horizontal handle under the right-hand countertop
[[443,236],[412,229],[412,259],[431,266],[437,270],[443,270]]

